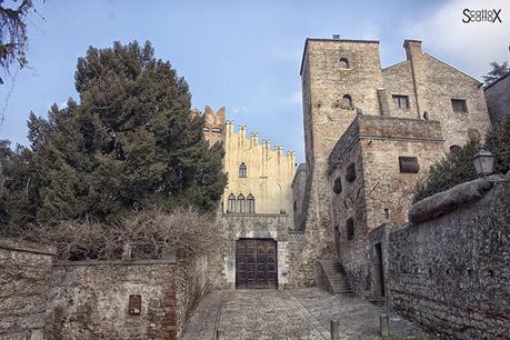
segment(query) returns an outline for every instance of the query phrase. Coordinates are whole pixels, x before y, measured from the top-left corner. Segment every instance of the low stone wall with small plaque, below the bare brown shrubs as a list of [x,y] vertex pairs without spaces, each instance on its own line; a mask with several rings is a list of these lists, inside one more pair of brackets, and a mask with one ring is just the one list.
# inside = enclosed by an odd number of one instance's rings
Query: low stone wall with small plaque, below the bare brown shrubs
[[[177,339],[207,284],[207,259],[74,261],[53,267],[48,339]],[[130,300],[140,296],[139,313]]]

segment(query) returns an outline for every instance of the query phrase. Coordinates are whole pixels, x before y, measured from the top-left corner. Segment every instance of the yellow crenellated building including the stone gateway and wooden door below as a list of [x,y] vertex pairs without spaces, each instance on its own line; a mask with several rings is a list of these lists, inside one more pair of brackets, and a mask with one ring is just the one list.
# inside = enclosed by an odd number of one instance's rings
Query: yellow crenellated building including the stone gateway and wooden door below
[[[197,111],[196,111],[197,112]],[[217,257],[212,281],[226,288],[282,288],[288,283],[288,231],[292,227],[294,152],[247,136],[247,127],[234,130],[224,108],[214,114],[204,110],[204,136],[224,148],[228,174],[219,208],[227,244]]]

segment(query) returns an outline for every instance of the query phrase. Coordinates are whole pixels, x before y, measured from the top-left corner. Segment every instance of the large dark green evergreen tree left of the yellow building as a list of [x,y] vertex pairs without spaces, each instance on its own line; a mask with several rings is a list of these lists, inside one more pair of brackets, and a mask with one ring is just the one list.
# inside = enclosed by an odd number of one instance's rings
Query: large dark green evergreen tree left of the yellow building
[[190,114],[187,82],[149,42],[90,47],[74,74],[80,103],[30,114],[31,201],[40,220],[178,204],[212,211],[223,192],[222,147]]

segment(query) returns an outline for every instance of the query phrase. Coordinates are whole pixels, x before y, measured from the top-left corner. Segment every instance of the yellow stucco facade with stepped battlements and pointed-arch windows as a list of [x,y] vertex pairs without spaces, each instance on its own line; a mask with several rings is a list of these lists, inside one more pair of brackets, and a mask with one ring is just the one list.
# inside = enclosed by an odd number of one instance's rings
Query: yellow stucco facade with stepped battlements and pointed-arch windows
[[258,133],[247,136],[246,126],[236,131],[233,121],[224,120],[223,108],[214,114],[207,107],[204,120],[206,139],[211,143],[223,141],[228,184],[222,212],[292,214],[296,153],[284,152],[281,146],[271,149],[269,140],[259,142]]

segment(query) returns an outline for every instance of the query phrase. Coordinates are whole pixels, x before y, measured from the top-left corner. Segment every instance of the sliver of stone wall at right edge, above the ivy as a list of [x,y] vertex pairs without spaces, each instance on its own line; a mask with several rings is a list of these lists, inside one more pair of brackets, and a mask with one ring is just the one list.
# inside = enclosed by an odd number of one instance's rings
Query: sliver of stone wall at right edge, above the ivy
[[510,72],[487,87],[484,94],[492,124],[510,119]]

